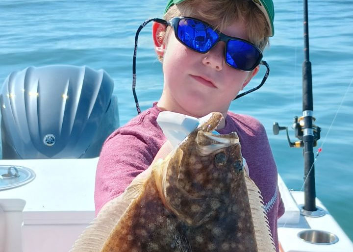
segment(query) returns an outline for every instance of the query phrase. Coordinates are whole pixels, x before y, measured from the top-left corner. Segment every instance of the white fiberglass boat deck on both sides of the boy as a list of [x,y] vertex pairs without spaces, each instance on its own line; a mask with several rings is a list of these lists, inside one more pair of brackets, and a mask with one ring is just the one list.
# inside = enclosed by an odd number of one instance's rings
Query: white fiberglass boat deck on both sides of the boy
[[[0,165],[24,166],[36,174],[28,184],[0,191],[0,252],[69,251],[95,216],[97,162],[98,158],[0,160]],[[289,192],[280,176],[278,186],[286,208],[278,220],[284,252],[353,252],[352,242],[328,212],[320,218],[303,217],[297,206],[303,203],[303,192]],[[325,209],[319,200],[317,204]],[[339,241],[304,242],[298,232],[308,228],[334,233]]]

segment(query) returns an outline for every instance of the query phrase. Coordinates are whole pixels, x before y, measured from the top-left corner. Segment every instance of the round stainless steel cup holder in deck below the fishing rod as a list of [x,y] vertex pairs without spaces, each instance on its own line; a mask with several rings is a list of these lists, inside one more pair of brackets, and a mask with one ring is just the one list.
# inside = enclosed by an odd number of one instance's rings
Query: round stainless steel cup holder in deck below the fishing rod
[[317,245],[330,245],[338,242],[335,234],[323,230],[303,230],[298,233],[298,237],[305,242]]

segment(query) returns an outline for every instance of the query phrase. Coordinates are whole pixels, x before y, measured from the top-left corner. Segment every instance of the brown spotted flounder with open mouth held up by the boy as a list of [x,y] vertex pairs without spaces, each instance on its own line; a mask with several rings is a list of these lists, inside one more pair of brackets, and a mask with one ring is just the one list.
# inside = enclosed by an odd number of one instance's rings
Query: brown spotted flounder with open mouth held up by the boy
[[163,160],[108,202],[72,252],[276,251],[239,138],[211,113]]

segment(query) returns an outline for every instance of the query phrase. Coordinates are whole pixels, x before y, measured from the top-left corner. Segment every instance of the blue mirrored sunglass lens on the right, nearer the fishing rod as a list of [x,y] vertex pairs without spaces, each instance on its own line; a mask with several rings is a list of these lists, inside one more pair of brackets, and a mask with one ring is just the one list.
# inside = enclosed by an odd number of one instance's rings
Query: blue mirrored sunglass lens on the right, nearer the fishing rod
[[251,71],[259,63],[260,52],[251,44],[240,40],[229,40],[227,43],[226,60],[235,68]]

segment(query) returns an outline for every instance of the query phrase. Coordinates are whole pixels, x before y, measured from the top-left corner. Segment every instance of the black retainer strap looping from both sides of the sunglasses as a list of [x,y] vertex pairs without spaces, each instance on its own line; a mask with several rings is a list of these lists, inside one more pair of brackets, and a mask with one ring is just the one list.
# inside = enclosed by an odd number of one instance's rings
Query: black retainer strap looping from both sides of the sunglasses
[[[148,19],[146,20],[144,23],[142,23],[142,25],[140,25],[140,27],[137,29],[136,31],[136,35],[135,35],[135,48],[134,48],[134,54],[133,54],[133,57],[132,57],[132,93],[133,93],[133,96],[134,96],[134,99],[135,99],[135,103],[136,103],[136,109],[137,109],[137,113],[140,114],[141,113],[141,109],[140,109],[140,105],[138,103],[138,99],[137,99],[137,95],[136,95],[136,54],[137,54],[137,41],[138,41],[138,35],[140,33],[140,31],[142,30],[143,27],[145,27],[148,23],[150,23],[151,21],[154,21],[154,22],[157,22],[157,23],[160,23],[160,24],[164,24],[164,25],[167,25],[168,22],[163,20],[163,19],[159,19],[159,18],[152,18],[152,19]],[[264,60],[261,60],[260,62],[260,65],[264,65],[267,70],[266,70],[266,73],[265,73],[265,76],[263,77],[260,85],[258,85],[257,87],[254,87],[248,91],[245,91],[239,95],[237,95],[233,101],[235,99],[238,99],[242,96],[245,96],[257,89],[259,89],[260,87],[263,86],[263,84],[265,83],[267,77],[269,76],[269,73],[270,73],[270,67],[269,65],[267,64],[266,61]]]

